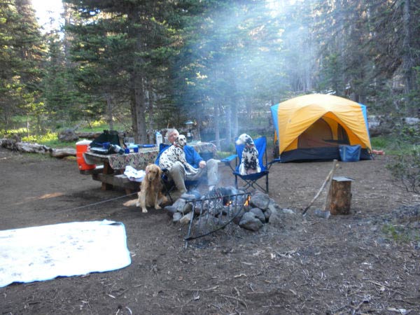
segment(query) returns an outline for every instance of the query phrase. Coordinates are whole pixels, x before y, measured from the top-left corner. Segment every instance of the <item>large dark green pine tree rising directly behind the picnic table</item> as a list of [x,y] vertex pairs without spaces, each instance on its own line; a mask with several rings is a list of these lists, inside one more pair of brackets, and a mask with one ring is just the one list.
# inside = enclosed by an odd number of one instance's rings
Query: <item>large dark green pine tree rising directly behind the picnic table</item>
[[155,95],[168,94],[162,81],[173,49],[165,22],[171,1],[67,2],[83,20],[66,28],[74,36],[71,57],[79,90],[103,108],[128,104],[136,141],[146,143],[148,113],[153,114],[156,102],[165,102]]

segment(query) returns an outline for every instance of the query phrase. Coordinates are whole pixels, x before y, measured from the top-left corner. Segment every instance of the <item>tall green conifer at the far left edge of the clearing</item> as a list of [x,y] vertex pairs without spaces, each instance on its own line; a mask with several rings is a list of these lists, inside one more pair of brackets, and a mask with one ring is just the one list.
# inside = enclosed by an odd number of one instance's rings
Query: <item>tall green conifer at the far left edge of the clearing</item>
[[0,112],[7,127],[13,115],[39,117],[41,113],[38,95],[44,48],[28,0],[0,0],[0,47]]

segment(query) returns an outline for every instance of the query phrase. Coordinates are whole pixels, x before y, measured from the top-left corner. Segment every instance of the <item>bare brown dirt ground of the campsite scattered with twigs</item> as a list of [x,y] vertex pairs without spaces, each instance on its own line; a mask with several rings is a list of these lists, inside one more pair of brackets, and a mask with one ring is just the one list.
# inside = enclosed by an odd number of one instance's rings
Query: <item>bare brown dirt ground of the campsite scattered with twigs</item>
[[123,207],[125,192],[102,191],[75,159],[0,148],[0,230],[119,221],[132,258],[113,272],[0,288],[1,314],[420,314],[419,196],[395,186],[387,159],[339,164],[354,179],[351,214],[328,219],[314,215],[323,195],[301,214],[332,162],[273,165],[269,195],[294,215],[184,248],[185,228],[162,210]]

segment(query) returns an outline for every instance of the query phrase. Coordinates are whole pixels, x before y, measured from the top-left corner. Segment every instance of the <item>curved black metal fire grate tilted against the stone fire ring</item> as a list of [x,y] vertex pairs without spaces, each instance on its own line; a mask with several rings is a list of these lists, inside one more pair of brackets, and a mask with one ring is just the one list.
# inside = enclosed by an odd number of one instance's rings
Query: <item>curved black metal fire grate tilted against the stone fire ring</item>
[[232,223],[251,199],[250,193],[230,193],[217,188],[200,199],[187,200],[192,204],[190,224],[184,240],[188,241],[211,235]]

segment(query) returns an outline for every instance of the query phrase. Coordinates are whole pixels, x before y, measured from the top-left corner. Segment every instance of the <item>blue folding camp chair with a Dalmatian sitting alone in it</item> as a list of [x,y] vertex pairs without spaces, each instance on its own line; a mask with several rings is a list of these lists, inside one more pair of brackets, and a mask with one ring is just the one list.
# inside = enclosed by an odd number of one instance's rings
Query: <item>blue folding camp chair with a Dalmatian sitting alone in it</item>
[[[236,140],[236,139],[235,139]],[[243,144],[236,145],[236,152],[235,155],[230,155],[228,158],[225,158],[222,160],[222,162],[225,163],[225,165],[228,165],[233,173],[235,175],[235,187],[238,188],[238,178],[243,180],[245,182],[244,189],[248,190],[248,188],[256,188],[255,186],[258,186],[260,189],[262,189],[265,193],[268,194],[268,170],[272,166],[272,163],[278,162],[278,160],[273,160],[272,162],[267,161],[267,138],[260,137],[253,140],[255,144],[255,148],[258,151],[258,162],[260,163],[261,172],[255,173],[255,174],[249,174],[249,175],[241,175],[239,174],[239,165],[241,165],[242,160],[242,151],[244,151],[245,146]],[[232,160],[235,160],[235,169],[232,167],[231,162]],[[262,188],[257,181],[261,179],[262,177],[265,177],[265,189]]]

